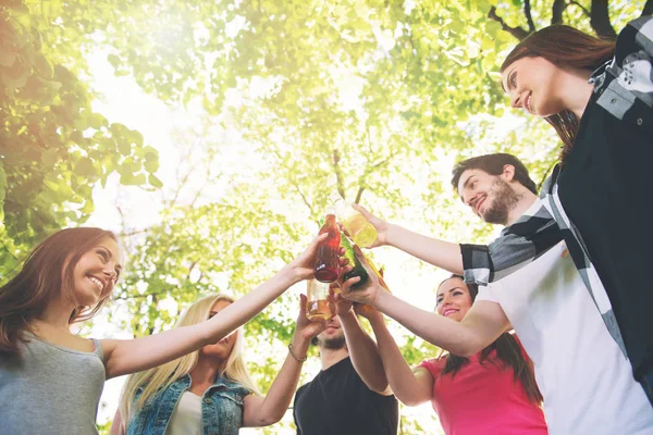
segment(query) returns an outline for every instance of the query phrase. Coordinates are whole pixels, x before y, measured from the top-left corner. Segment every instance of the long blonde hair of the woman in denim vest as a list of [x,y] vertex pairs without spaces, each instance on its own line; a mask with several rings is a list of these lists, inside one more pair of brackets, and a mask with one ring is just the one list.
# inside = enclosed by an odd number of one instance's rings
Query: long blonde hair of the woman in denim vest
[[[225,295],[204,297],[188,307],[186,312],[180,318],[175,327],[195,325],[206,321],[209,318],[209,313],[213,304],[220,301],[233,303],[234,299]],[[224,370],[220,373],[220,375],[229,378],[230,381],[236,382],[251,390],[254,394],[259,395],[259,389],[254,381],[249,377],[249,373],[245,366],[245,360],[243,359],[243,328],[236,330],[234,334],[236,334],[234,347],[232,348],[232,351],[226,359]],[[130,375],[125,386],[123,387],[119,405],[122,424],[124,425],[125,430],[128,425],[127,423],[131,415],[136,414],[138,410],[143,409],[149,399],[151,399],[159,391],[168,388],[180,377],[190,373],[199,358],[199,350],[200,349],[157,368],[146,370],[145,372]],[[136,393],[141,387],[143,393],[135,401]]]

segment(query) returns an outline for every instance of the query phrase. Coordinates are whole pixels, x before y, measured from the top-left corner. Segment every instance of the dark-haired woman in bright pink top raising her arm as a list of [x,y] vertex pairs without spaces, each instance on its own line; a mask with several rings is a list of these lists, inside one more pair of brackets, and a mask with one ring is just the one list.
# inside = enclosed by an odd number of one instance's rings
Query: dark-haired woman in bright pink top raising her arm
[[[445,279],[438,288],[438,313],[459,322],[477,293],[478,288],[466,285],[460,276]],[[383,315],[377,310],[364,315],[377,335],[385,374],[397,399],[409,407],[431,400],[445,434],[547,433],[532,363],[514,335],[503,334],[469,359],[445,355],[411,370]]]

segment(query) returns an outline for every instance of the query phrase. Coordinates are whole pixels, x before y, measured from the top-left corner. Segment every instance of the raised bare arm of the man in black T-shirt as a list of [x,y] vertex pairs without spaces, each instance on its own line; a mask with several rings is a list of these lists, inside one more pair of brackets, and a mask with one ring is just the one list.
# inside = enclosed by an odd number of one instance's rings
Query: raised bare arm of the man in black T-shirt
[[384,396],[392,395],[377,344],[360,326],[352,301],[334,295],[333,289],[329,293],[345,333],[354,369],[369,389]]

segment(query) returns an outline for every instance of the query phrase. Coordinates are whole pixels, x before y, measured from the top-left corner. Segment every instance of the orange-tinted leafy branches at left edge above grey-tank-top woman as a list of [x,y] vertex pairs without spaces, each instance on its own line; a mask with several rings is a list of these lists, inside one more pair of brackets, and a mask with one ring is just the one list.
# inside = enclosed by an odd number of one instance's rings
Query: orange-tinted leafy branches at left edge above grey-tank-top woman
[[124,184],[147,186],[158,169],[156,150],[95,113],[88,85],[45,44],[47,17],[61,12],[60,2],[0,7],[0,276],[34,243],[83,223],[97,182],[118,171]]

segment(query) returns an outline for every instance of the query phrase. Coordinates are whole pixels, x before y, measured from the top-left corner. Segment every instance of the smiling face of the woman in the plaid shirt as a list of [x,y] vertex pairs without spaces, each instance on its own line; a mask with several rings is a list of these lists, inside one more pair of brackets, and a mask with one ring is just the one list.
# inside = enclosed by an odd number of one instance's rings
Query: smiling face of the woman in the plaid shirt
[[544,58],[521,58],[504,70],[502,84],[513,108],[546,117],[565,110],[558,95],[563,73]]

